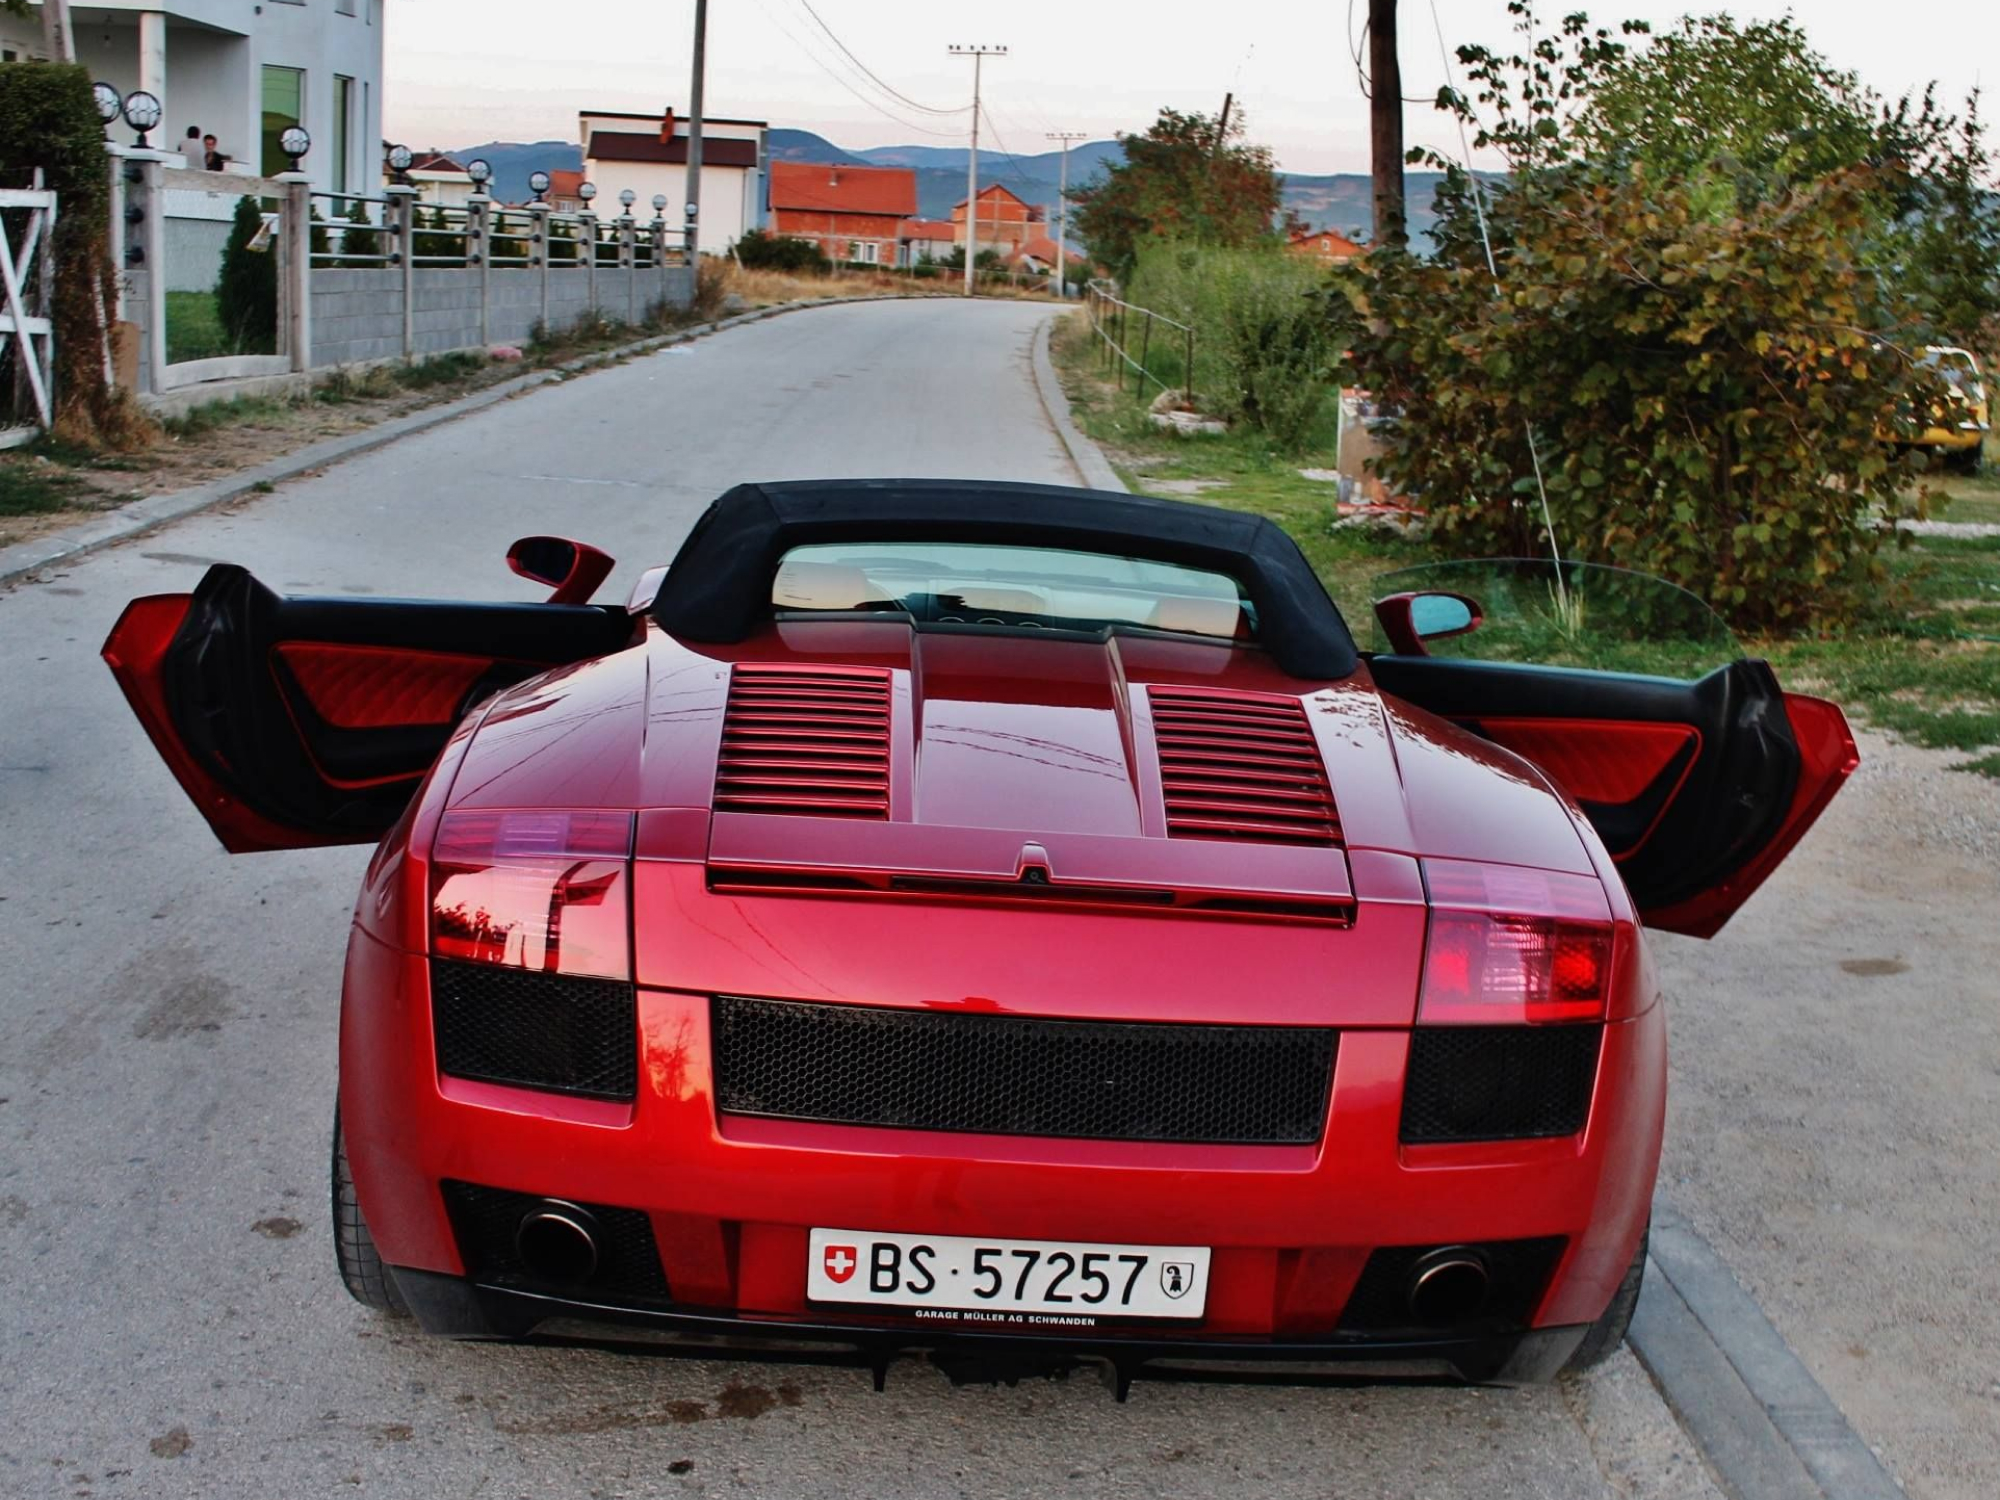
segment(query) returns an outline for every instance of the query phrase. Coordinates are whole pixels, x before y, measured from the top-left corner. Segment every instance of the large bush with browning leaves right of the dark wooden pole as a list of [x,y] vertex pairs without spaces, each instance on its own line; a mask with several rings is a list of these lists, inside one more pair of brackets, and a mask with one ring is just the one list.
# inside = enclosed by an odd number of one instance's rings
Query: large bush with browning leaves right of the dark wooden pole
[[1586,154],[1608,130],[1598,86],[1632,76],[1618,38],[1510,10],[1524,50],[1462,48],[1472,92],[1446,98],[1508,178],[1474,198],[1448,176],[1434,260],[1378,248],[1336,274],[1348,374],[1394,414],[1382,472],[1452,546],[1534,552],[1540,468],[1566,556],[1660,574],[1750,628],[1842,618],[1908,478],[1880,434],[1932,384],[1918,298],[1876,260],[1880,170],[1718,212],[1694,154]]

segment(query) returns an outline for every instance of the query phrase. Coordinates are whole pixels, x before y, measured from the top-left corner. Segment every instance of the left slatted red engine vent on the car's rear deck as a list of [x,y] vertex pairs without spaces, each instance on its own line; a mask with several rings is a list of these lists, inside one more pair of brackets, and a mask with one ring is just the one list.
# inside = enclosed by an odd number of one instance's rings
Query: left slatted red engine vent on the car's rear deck
[[888,670],[740,662],[716,812],[888,818]]

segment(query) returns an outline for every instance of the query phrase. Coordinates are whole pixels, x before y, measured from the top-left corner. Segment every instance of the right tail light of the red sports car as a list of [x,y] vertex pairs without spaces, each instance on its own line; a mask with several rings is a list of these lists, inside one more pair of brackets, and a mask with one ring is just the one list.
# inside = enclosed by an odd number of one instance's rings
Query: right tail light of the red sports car
[[1614,926],[1590,876],[1424,860],[1424,1026],[1604,1020]]

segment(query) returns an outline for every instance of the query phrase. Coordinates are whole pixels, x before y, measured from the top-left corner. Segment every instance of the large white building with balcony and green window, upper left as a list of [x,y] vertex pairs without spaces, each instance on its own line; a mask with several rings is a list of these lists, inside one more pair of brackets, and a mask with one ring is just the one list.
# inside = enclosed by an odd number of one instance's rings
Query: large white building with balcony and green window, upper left
[[[380,190],[382,0],[94,0],[72,6],[70,28],[92,78],[160,98],[150,144],[178,150],[198,126],[238,170],[276,174],[278,136],[302,124],[316,188]],[[0,50],[46,56],[38,4],[0,12]]]

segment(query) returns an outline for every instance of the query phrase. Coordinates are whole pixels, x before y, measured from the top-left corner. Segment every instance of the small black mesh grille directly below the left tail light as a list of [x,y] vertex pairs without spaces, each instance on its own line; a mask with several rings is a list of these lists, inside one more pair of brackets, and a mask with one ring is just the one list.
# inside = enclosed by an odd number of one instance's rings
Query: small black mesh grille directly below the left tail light
[[632,1098],[638,1000],[620,980],[430,960],[438,1068],[454,1078]]

